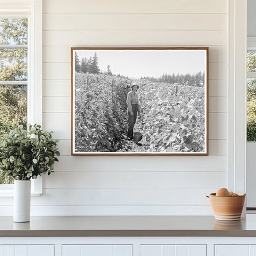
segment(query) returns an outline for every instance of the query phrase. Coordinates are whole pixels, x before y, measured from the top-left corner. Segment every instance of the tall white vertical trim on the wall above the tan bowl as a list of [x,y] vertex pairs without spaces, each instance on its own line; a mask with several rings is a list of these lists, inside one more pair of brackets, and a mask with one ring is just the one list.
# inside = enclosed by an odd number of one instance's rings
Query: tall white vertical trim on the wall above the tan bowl
[[246,0],[230,0],[228,188],[246,193]]

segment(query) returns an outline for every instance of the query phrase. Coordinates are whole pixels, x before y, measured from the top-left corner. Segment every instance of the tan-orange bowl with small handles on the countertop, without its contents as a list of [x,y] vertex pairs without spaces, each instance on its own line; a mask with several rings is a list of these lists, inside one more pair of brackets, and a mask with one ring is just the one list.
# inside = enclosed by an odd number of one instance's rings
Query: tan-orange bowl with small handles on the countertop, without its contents
[[246,194],[238,196],[216,196],[216,193],[211,193],[210,205],[214,211],[216,220],[240,220]]

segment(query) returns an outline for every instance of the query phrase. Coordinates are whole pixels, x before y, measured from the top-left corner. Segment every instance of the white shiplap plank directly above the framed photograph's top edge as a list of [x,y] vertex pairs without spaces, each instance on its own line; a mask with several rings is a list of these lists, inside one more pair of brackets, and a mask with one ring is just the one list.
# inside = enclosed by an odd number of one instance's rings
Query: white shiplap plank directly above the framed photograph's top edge
[[42,36],[44,46],[226,45],[225,30],[43,31]]

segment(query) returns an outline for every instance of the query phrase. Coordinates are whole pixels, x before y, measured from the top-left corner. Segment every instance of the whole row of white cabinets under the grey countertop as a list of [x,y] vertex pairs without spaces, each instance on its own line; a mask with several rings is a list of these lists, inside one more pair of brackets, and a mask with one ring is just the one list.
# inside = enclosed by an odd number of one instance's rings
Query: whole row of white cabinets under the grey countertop
[[0,256],[256,256],[256,238],[0,237]]

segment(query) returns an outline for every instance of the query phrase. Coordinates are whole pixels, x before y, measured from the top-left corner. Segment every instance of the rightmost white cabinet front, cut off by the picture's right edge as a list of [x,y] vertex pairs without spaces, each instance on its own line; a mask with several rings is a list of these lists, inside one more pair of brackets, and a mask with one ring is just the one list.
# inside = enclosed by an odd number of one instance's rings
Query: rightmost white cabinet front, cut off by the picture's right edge
[[228,244],[216,245],[215,256],[255,256],[255,245]]

